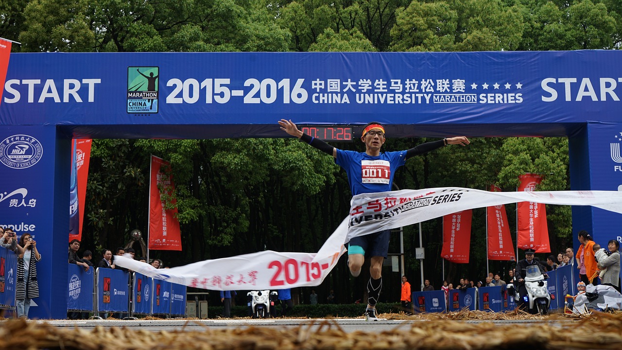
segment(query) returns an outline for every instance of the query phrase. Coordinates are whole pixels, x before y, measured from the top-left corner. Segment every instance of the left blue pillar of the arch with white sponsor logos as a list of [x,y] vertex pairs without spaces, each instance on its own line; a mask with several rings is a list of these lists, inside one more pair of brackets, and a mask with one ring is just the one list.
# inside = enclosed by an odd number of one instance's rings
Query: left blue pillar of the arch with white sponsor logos
[[[41,253],[40,296],[30,308],[32,318],[67,317],[67,305],[58,303],[67,299],[67,255],[57,252],[67,251],[69,217],[63,208],[69,203],[70,168],[57,164],[57,154],[66,151],[68,161],[71,144],[56,138],[53,125],[0,126],[0,217],[5,218],[0,224],[18,239],[30,234]],[[61,217],[66,219],[52,224]]]

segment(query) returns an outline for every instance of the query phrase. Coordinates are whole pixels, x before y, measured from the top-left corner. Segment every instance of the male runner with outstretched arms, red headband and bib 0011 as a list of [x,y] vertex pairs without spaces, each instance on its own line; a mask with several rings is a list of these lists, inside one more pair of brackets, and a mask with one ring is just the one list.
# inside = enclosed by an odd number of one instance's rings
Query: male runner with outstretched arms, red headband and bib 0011
[[[406,159],[412,156],[433,151],[442,146],[447,146],[447,144],[466,146],[470,143],[465,136],[457,136],[419,144],[407,151],[380,153],[380,148],[385,141],[384,126],[380,123],[371,122],[364,126],[361,135],[361,141],[365,144],[365,152],[342,151],[322,140],[302,133],[291,120],[281,119],[279,125],[281,130],[289,135],[295,136],[300,141],[309,143],[336,158],[335,163],[345,169],[348,174],[353,196],[361,193],[391,191],[395,171],[406,163]],[[348,244],[348,267],[354,277],[358,277],[361,273],[365,255],[371,257],[369,266],[371,278],[367,283],[368,304],[365,310],[365,318],[368,321],[378,321],[376,303],[383,286],[383,261],[388,256],[390,236],[391,230],[384,230],[354,237]]]

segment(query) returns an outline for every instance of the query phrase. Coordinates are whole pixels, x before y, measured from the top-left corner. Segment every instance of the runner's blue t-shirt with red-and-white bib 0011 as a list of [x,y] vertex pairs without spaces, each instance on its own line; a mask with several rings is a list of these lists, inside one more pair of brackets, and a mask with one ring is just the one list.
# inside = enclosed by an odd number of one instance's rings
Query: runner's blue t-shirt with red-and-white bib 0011
[[406,163],[406,151],[369,156],[364,152],[337,149],[335,163],[348,174],[352,196],[392,191],[393,174]]

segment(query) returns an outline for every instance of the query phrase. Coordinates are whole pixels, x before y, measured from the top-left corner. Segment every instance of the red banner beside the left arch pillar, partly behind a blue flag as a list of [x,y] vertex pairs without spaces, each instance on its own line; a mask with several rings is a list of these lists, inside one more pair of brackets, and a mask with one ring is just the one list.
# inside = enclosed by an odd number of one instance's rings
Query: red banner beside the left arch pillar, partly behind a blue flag
[[[77,234],[69,230],[69,242],[73,239],[82,240],[82,225],[84,222],[84,207],[86,201],[86,181],[88,181],[88,165],[91,160],[91,140],[74,140],[72,142],[72,162],[75,162],[75,168],[77,169],[77,191],[78,191],[78,232]],[[73,166],[74,164],[72,164]],[[73,190],[73,189],[72,189]],[[75,204],[74,204],[75,205]],[[70,215],[72,210],[70,209]],[[70,219],[72,220],[72,219]],[[71,227],[71,224],[70,224]]]

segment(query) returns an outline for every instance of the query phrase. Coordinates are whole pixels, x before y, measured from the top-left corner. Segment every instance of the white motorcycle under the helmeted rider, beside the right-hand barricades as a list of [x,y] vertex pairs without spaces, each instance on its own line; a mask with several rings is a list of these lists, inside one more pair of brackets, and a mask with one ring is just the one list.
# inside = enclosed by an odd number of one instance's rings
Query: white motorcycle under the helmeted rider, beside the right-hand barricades
[[[527,311],[531,314],[540,313],[541,315],[546,315],[550,306],[548,283],[537,265],[528,266],[525,269],[525,273],[524,283],[527,295],[524,296],[523,301],[528,305]],[[508,288],[510,293],[514,291],[514,300],[518,304],[521,301],[518,288],[514,288],[514,285],[511,283],[506,288]]]

